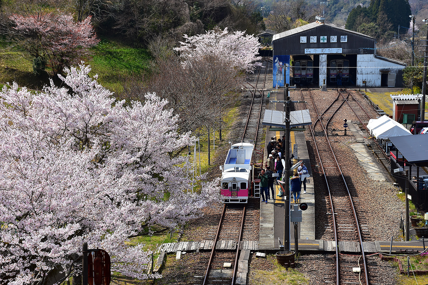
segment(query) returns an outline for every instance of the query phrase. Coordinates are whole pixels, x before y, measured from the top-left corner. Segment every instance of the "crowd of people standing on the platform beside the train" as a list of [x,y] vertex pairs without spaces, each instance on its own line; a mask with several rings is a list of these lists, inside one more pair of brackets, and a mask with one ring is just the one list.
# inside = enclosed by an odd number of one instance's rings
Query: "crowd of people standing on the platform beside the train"
[[[268,159],[265,162],[265,168],[262,169],[258,179],[260,179],[260,192],[262,194],[262,202],[268,203],[270,200],[270,193],[272,193],[272,199],[275,197],[275,190],[273,183],[275,179],[280,180],[282,178],[282,172],[284,171],[284,165],[282,159],[285,160],[284,156],[284,143],[285,135],[281,139],[276,140],[276,137],[270,138],[270,142],[267,146]],[[291,159],[290,159],[291,161]],[[273,177],[273,173],[278,173],[278,176]],[[290,179],[290,190],[293,193],[293,200],[291,203],[299,203],[300,192],[303,185],[303,193],[306,193],[306,178],[309,176],[308,169],[302,162],[297,168],[297,175],[293,175]],[[284,193],[280,191],[279,197],[284,197]]]

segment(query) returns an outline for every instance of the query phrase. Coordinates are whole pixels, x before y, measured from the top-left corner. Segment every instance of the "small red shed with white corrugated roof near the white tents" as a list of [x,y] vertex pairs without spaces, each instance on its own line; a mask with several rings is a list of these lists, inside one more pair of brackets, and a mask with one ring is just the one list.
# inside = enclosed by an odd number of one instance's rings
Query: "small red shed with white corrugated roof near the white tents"
[[392,119],[398,123],[411,124],[418,120],[418,110],[422,94],[391,94]]

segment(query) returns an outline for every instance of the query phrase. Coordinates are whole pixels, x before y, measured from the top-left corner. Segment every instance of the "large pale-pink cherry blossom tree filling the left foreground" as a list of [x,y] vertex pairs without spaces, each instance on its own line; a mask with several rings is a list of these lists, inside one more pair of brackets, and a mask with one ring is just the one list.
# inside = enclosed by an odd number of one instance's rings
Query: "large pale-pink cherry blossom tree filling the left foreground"
[[16,83],[0,93],[2,284],[62,282],[78,273],[83,242],[107,250],[114,270],[146,278],[150,252],[125,242],[219,200],[218,180],[193,187],[177,150],[194,138],[178,133],[166,100],[115,100],[89,71],[65,68],[67,88],[51,80],[40,93]]

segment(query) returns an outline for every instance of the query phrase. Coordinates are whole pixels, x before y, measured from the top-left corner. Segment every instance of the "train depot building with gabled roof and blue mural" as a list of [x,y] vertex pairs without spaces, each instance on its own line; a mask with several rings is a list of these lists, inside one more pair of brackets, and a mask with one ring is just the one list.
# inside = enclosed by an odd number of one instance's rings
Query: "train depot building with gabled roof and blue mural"
[[317,20],[273,35],[273,87],[321,86],[323,79],[327,85],[402,85],[406,64],[376,55],[375,38]]

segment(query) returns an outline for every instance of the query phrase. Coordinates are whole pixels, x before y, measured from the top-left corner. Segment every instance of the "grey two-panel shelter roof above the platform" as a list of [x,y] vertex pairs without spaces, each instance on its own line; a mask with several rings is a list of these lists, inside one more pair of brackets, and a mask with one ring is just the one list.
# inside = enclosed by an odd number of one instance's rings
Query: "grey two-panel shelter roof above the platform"
[[[277,110],[265,110],[262,125],[285,128],[285,112]],[[312,125],[309,110],[298,110],[290,112],[290,127]]]

